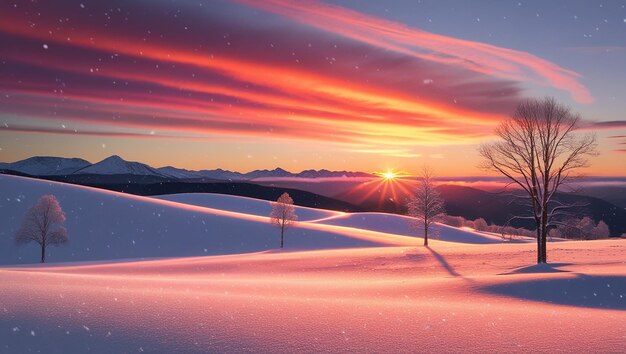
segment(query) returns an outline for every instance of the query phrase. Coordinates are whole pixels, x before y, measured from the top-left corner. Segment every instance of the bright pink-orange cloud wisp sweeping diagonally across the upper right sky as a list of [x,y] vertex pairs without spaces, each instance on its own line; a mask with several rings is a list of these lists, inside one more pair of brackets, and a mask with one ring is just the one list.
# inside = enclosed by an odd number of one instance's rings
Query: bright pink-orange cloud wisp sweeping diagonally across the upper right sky
[[593,102],[589,90],[578,82],[580,74],[526,52],[429,33],[317,1],[238,1],[401,54],[505,79],[548,84],[579,102]]

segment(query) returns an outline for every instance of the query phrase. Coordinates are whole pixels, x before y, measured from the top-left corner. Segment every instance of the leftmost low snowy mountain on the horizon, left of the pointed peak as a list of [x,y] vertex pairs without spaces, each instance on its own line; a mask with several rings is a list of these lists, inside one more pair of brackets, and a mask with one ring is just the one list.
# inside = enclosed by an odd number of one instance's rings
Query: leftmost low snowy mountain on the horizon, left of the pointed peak
[[79,158],[52,156],[34,156],[16,162],[2,162],[0,169],[17,171],[32,176],[69,175],[91,165],[89,161]]

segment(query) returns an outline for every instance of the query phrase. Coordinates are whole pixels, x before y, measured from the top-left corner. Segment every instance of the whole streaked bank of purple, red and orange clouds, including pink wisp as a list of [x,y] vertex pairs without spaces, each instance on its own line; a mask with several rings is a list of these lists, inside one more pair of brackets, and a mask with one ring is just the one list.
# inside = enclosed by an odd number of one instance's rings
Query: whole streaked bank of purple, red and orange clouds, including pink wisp
[[576,73],[527,53],[322,3],[241,3],[0,4],[0,112],[93,125],[84,135],[158,129],[410,158],[489,136],[529,79],[591,100]]

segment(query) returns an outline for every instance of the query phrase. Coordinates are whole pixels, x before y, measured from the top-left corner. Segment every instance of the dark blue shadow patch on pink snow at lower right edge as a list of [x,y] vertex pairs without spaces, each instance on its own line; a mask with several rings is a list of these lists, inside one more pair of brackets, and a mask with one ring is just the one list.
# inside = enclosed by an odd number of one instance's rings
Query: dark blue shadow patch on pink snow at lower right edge
[[551,304],[626,311],[626,276],[579,274],[574,278],[496,284],[480,290]]

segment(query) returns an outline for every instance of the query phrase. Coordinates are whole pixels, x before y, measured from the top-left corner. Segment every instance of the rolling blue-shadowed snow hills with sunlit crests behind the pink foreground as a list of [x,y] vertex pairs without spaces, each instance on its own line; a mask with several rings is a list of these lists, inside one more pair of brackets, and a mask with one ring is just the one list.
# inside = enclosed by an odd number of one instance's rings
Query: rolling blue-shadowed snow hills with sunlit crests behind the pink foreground
[[[265,216],[270,208],[267,201],[212,194],[156,199],[0,175],[0,264],[37,262],[36,246],[17,248],[13,237],[26,209],[45,194],[59,199],[70,237],[68,244],[49,249],[50,262],[233,254],[279,245],[278,232]],[[421,239],[395,234],[393,229],[368,229],[358,213],[300,207],[296,213],[301,222],[286,233],[288,250],[421,243]],[[349,224],[331,224],[330,220],[345,215],[350,215]],[[389,218],[392,224],[401,224],[401,216]],[[442,232],[448,235],[442,239],[485,243],[485,235],[450,230]]]

